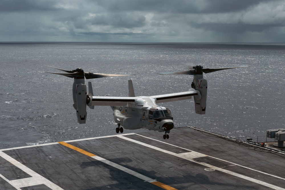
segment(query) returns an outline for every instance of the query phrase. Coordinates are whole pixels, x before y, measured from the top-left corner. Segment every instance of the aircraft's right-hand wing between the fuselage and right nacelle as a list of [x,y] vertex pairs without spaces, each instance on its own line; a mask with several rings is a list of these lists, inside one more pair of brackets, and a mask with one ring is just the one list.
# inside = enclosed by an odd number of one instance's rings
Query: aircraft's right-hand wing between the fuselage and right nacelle
[[193,88],[189,89],[187,92],[178,92],[178,93],[171,93],[171,94],[162,94],[162,95],[155,95],[150,96],[156,100],[156,103],[163,103],[163,102],[173,102],[179,100],[187,100],[191,99],[192,96],[198,95],[197,91]]

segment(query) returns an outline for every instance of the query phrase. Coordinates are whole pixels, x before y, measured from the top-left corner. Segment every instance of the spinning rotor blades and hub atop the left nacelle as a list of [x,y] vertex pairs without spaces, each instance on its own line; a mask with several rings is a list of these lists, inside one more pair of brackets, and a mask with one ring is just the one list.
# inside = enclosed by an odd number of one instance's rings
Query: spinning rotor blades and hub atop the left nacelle
[[[76,70],[68,71],[64,69],[59,69],[56,67],[51,67],[60,71],[64,71],[66,73],[52,73],[52,74],[58,74],[63,75],[70,78],[75,79],[95,79],[95,78],[101,78],[101,77],[122,77],[122,76],[134,76],[135,74],[101,74],[101,73],[91,73],[91,72],[84,72],[82,68],[77,68]],[[51,72],[46,72],[51,73]]]

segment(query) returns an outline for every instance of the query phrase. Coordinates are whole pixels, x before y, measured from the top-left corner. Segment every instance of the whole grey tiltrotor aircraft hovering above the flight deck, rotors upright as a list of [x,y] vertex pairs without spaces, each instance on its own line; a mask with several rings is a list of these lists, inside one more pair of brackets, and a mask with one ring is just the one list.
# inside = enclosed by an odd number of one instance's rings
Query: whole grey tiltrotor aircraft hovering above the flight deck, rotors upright
[[[93,96],[92,84],[88,82],[88,94],[85,79],[94,79],[100,77],[117,77],[117,76],[133,76],[133,74],[99,74],[84,72],[81,68],[76,70],[65,71],[66,73],[54,73],[74,78],[73,83],[73,107],[76,110],[78,123],[86,122],[86,106],[94,109],[94,106],[111,106],[115,123],[117,124],[116,132],[123,132],[125,129],[145,128],[164,132],[163,138],[168,139],[172,128],[174,128],[173,117],[170,109],[156,105],[156,103],[172,102],[179,100],[191,99],[194,96],[195,112],[197,114],[205,114],[207,99],[207,80],[203,79],[203,73],[210,73],[219,70],[242,68],[219,68],[219,69],[203,69],[202,66],[193,66],[187,71],[174,73],[158,73],[158,74],[185,74],[194,75],[191,88],[186,92],[154,95],[154,96],[135,96],[133,82],[129,80],[129,97],[109,97],[109,96]],[[54,67],[52,67],[54,68]],[[50,73],[50,72],[48,72]]]

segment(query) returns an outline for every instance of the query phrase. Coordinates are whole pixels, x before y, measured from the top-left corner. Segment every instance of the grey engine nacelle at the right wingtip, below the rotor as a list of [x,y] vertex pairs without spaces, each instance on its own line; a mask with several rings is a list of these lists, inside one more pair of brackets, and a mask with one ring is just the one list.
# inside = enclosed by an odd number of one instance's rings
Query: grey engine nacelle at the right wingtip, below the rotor
[[194,76],[192,84],[192,88],[196,89],[198,93],[197,96],[194,96],[195,112],[202,115],[206,113],[208,83],[203,77],[197,79],[196,76]]

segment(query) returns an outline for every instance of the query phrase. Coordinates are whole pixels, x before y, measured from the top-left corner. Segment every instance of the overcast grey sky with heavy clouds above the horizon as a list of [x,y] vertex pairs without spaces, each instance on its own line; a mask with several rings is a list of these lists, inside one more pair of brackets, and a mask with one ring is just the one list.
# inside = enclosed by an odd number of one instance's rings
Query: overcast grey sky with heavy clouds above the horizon
[[0,41],[285,43],[285,0],[0,0]]

